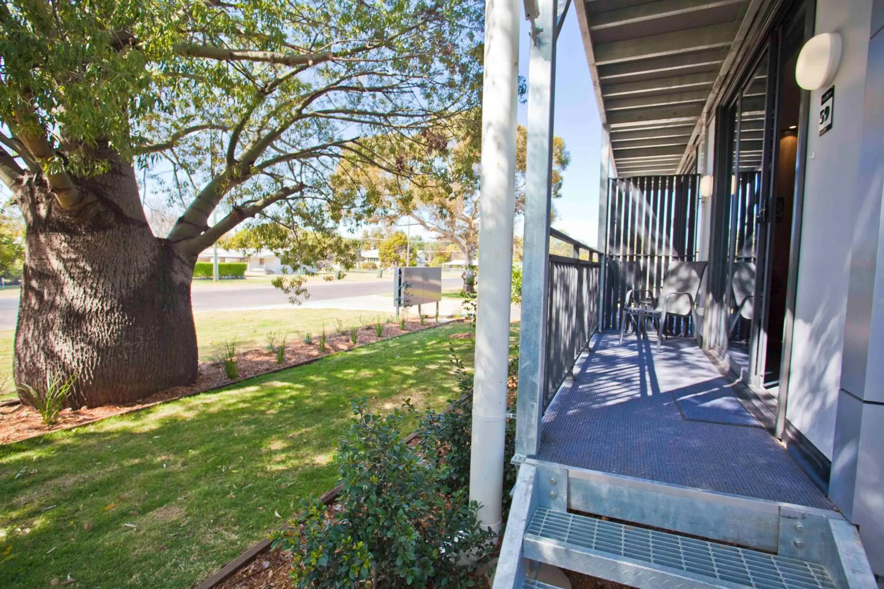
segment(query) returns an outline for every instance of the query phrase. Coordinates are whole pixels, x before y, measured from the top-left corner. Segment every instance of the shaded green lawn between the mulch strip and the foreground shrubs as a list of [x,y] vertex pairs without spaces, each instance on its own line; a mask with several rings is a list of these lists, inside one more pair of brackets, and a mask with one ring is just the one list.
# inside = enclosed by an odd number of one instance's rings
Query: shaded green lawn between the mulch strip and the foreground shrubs
[[[350,399],[453,395],[450,324],[0,447],[0,586],[194,586],[329,490]],[[517,336],[514,328],[513,336]],[[276,514],[281,516],[277,517]]]

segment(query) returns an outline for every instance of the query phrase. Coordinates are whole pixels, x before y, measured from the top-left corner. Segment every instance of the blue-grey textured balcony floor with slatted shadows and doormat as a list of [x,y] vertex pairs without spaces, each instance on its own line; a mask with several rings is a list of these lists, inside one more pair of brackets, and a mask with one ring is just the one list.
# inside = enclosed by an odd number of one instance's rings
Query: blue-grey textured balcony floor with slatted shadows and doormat
[[545,413],[537,458],[600,472],[833,509],[691,340],[596,337]]

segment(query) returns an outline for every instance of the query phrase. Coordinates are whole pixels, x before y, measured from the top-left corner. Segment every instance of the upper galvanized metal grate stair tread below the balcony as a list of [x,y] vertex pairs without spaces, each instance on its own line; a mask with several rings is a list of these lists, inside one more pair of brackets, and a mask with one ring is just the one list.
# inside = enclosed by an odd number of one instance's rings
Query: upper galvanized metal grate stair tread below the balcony
[[[540,541],[558,540],[589,548],[600,553],[593,557],[605,561],[628,559],[621,565],[627,568],[630,562],[634,562],[647,570],[650,563],[654,570],[696,579],[705,586],[836,589],[826,568],[820,564],[542,507],[538,507],[531,518],[526,542],[530,535],[537,536]],[[555,554],[554,549],[543,552]],[[567,563],[550,564],[563,566]],[[724,583],[716,585],[716,579]]]

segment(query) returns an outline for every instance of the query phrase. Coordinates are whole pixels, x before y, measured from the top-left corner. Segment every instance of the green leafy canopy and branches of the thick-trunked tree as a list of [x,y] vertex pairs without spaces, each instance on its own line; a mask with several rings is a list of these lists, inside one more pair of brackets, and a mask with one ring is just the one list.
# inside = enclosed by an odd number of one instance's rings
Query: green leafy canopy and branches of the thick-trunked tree
[[117,157],[147,166],[184,210],[168,237],[190,253],[265,210],[358,223],[377,195],[331,173],[408,175],[379,139],[425,147],[427,129],[475,108],[482,14],[479,0],[11,0],[0,171],[11,186],[45,175],[70,208]]

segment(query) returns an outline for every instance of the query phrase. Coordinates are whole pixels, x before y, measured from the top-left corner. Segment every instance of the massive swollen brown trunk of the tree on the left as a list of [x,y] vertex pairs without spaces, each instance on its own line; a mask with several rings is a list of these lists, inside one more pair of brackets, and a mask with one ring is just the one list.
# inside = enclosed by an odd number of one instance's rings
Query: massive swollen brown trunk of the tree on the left
[[[66,405],[132,402],[193,382],[194,257],[154,237],[133,169],[78,182],[88,201],[64,211],[44,185],[19,195],[27,223],[15,381],[45,391],[75,378]],[[22,401],[29,402],[19,389]]]

